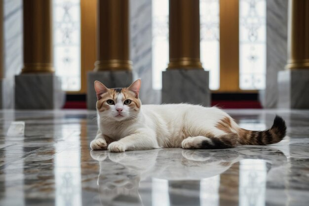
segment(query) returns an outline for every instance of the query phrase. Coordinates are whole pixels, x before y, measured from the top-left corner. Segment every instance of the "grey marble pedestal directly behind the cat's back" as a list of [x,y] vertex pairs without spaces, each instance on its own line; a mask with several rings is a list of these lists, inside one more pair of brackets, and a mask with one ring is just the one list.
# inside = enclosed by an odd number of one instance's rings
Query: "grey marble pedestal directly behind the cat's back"
[[162,72],[162,103],[210,106],[209,72],[199,69]]

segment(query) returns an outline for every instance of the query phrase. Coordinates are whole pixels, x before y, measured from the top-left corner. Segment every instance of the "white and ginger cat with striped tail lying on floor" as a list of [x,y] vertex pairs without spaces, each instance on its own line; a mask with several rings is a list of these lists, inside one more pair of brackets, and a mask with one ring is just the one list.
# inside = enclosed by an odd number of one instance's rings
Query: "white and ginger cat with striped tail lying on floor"
[[127,88],[94,82],[98,132],[93,150],[124,152],[154,148],[225,149],[237,145],[268,145],[281,141],[286,125],[276,116],[265,131],[240,128],[224,111],[191,104],[143,105],[141,80]]

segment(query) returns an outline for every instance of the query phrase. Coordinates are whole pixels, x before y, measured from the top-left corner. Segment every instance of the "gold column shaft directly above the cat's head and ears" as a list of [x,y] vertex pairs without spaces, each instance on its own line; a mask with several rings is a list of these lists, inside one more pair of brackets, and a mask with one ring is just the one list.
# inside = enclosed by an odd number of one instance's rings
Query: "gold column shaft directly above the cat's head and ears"
[[94,71],[129,71],[129,2],[98,0],[97,61]]

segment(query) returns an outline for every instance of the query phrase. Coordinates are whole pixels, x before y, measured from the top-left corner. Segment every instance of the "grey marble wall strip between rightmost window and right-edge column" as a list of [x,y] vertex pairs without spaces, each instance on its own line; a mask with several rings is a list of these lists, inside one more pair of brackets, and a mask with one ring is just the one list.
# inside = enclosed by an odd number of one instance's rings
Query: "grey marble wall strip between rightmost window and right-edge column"
[[267,0],[267,71],[263,106],[275,108],[277,75],[287,61],[288,0]]

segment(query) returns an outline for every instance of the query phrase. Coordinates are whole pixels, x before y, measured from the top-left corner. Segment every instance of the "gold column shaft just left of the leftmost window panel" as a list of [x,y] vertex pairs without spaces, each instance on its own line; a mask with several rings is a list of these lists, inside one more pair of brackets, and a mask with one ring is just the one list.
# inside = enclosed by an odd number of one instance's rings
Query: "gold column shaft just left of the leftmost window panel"
[[22,73],[53,73],[52,0],[24,0]]

